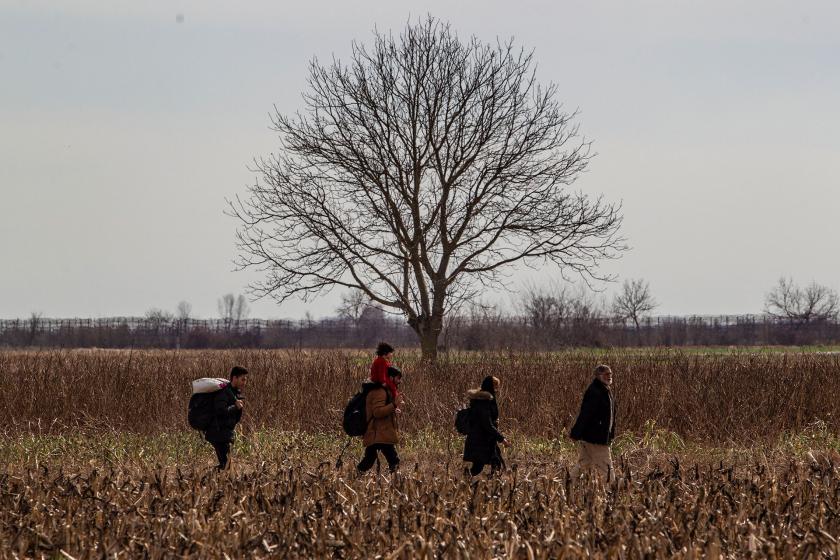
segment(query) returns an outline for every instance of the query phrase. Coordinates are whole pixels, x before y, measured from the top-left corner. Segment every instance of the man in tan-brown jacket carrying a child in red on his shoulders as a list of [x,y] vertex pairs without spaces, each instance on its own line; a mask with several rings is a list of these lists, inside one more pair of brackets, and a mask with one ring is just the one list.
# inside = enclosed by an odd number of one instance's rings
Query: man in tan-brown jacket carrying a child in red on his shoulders
[[[376,462],[377,453],[382,453],[388,461],[388,468],[395,472],[400,464],[396,444],[399,442],[397,431],[397,416],[401,414],[399,402],[394,397],[389,386],[399,388],[402,383],[402,372],[389,366],[387,370],[388,383],[371,381],[365,383],[367,398],[365,400],[365,415],[367,431],[364,436],[365,455],[359,462],[359,473],[364,473]],[[397,393],[399,395],[399,393]],[[399,398],[399,396],[397,397]]]

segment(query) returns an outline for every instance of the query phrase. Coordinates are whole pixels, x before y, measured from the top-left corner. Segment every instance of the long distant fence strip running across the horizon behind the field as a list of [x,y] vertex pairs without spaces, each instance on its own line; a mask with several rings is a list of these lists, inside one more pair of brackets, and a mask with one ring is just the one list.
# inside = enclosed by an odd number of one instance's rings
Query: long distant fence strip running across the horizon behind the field
[[[371,348],[380,340],[417,346],[400,318],[167,320],[141,317],[0,320],[0,346],[100,348]],[[764,315],[652,317],[638,328],[603,317],[534,321],[453,317],[439,344],[467,350],[551,350],[569,346],[728,346],[840,344],[840,323],[801,323]]]

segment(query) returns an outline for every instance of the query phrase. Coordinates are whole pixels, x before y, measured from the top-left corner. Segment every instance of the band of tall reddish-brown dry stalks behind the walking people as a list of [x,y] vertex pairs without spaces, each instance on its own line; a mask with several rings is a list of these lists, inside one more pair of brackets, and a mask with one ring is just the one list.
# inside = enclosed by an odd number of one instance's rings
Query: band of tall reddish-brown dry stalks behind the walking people
[[[754,444],[821,422],[840,428],[840,356],[465,353],[435,366],[398,355],[407,400],[402,429],[452,430],[465,391],[502,379],[501,425],[515,434],[561,437],[599,362],[613,366],[619,432],[651,425],[700,442]],[[8,433],[188,429],[189,382],[252,374],[243,429],[336,431],[369,356],[343,351],[0,352],[0,421]]]

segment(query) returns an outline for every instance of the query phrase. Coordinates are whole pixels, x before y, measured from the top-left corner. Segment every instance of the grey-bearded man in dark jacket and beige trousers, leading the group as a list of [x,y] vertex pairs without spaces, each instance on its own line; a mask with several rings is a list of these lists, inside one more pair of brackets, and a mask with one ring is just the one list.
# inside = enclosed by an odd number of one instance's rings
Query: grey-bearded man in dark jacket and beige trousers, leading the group
[[580,445],[580,458],[572,468],[577,478],[582,469],[595,468],[608,482],[615,481],[610,442],[615,436],[615,398],[612,393],[612,369],[599,365],[595,379],[583,394],[580,414],[569,434]]

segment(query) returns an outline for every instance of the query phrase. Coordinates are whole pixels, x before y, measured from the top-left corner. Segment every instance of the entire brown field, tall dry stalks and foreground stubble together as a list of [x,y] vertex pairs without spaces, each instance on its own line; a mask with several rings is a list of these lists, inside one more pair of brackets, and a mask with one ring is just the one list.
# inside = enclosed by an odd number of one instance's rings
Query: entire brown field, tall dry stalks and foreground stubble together
[[[840,558],[840,357],[398,356],[398,475],[344,464],[346,352],[0,352],[2,558]],[[618,482],[572,480],[565,438],[595,364],[616,371]],[[252,374],[234,467],[186,426],[189,381]],[[466,478],[463,393],[502,379],[514,442]]]

